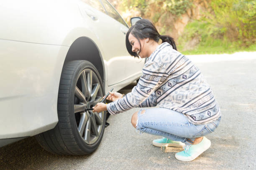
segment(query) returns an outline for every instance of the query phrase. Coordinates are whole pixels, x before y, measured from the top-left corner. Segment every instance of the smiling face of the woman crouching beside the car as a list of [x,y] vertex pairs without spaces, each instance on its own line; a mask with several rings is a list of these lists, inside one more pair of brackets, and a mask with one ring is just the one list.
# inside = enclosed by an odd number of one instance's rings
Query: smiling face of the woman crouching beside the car
[[132,51],[136,52],[141,58],[146,58],[146,53],[145,53],[145,48],[144,48],[144,44],[145,42],[143,40],[140,40],[141,42],[141,46],[140,43],[138,41],[138,39],[136,37],[134,37],[131,33],[128,36],[128,40],[132,46]]

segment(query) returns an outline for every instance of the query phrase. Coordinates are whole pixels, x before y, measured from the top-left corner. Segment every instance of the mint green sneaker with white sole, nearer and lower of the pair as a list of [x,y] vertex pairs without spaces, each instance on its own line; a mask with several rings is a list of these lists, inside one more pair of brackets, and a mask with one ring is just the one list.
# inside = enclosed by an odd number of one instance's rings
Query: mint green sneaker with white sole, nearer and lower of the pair
[[203,137],[202,141],[196,145],[186,145],[184,151],[175,154],[175,158],[181,161],[192,161],[202,152],[205,152],[211,146],[211,141]]

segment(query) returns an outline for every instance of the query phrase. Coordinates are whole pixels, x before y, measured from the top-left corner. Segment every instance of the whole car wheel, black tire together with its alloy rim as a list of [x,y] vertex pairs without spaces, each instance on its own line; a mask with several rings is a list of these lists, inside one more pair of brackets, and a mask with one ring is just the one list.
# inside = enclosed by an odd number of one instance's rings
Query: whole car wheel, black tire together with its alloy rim
[[85,109],[100,102],[104,94],[100,74],[92,63],[77,60],[65,64],[59,84],[59,122],[54,129],[36,135],[39,144],[54,154],[85,155],[95,151],[102,140],[106,113]]

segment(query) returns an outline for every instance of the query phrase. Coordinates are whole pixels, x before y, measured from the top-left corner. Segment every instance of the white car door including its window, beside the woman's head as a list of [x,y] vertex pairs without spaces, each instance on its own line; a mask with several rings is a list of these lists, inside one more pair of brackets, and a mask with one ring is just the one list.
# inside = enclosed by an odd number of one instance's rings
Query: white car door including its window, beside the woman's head
[[[106,0],[83,0],[80,10],[86,20],[90,18],[93,31],[104,51],[103,60],[108,74],[108,86],[125,81],[141,73],[141,59],[129,55],[125,47],[128,26]],[[89,5],[87,5],[89,4]],[[104,5],[103,8],[100,5]]]

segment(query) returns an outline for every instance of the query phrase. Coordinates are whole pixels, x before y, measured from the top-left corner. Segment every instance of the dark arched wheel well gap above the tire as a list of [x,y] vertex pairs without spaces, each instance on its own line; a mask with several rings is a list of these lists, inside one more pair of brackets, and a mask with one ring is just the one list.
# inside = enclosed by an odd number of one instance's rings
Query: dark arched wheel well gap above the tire
[[100,77],[103,80],[104,77],[104,65],[101,53],[95,43],[87,37],[77,38],[69,48],[64,64],[73,60],[87,60],[90,61],[99,71]]

